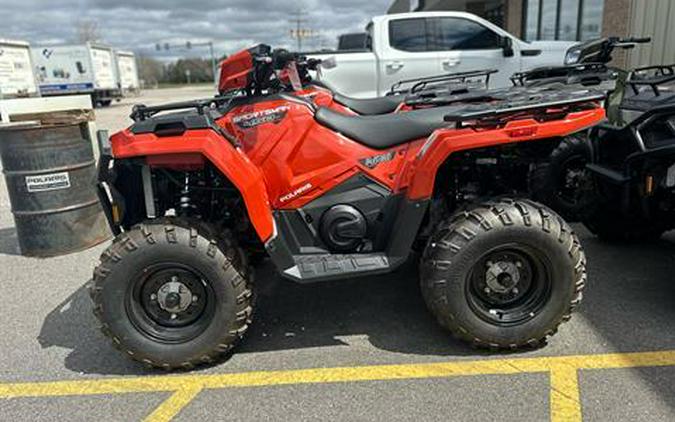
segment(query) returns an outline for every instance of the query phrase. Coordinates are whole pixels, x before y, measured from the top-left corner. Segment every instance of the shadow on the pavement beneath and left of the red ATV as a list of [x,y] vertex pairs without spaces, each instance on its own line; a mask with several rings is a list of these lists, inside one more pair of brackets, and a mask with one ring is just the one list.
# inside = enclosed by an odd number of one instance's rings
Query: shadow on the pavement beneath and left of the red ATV
[[[262,286],[254,323],[236,353],[345,344],[342,336],[365,336],[387,351],[422,355],[481,355],[454,340],[427,312],[416,266],[394,274],[298,285],[280,279],[271,265],[257,271]],[[82,373],[156,373],[114,350],[99,331],[86,286],[45,318],[38,341],[70,349],[65,366]]]

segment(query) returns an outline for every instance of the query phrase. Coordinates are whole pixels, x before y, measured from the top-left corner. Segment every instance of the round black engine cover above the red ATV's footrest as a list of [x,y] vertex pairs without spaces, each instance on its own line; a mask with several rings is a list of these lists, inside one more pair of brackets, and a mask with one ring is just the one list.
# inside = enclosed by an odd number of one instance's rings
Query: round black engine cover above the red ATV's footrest
[[364,215],[351,205],[334,205],[321,216],[321,239],[332,251],[353,252],[364,241],[368,223]]

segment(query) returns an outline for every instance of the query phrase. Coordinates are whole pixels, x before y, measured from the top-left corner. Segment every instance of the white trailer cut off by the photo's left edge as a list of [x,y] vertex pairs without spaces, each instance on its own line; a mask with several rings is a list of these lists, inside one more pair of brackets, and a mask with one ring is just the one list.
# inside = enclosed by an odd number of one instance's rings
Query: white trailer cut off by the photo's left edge
[[30,44],[0,38],[0,99],[38,95]]

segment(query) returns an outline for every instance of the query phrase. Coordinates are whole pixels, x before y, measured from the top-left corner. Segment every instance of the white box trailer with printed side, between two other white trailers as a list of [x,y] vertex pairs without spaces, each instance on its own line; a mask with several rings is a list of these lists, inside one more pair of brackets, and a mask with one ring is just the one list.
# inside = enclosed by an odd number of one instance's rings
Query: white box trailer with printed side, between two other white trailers
[[121,98],[112,48],[98,44],[37,46],[32,49],[43,96],[89,94],[97,106]]

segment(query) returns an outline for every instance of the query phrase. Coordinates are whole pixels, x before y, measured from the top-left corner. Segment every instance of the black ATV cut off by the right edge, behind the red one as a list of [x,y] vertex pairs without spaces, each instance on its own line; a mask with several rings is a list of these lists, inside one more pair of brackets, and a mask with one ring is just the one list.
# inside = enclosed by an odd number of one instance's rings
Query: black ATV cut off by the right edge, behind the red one
[[582,221],[607,240],[649,240],[675,227],[675,65],[635,69],[615,121],[588,135],[595,206]]

